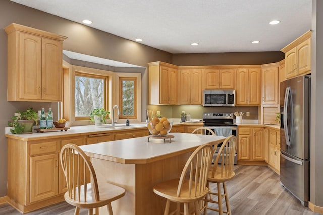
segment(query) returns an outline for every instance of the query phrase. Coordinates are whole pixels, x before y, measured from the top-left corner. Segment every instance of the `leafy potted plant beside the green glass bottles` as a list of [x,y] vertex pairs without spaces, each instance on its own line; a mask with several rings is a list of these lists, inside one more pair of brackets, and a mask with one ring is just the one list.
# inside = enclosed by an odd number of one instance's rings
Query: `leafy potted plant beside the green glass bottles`
[[11,133],[14,134],[28,134],[32,133],[34,122],[37,125],[38,114],[33,108],[28,108],[26,111],[16,111],[15,115],[11,117],[12,122],[8,125],[12,127]]

